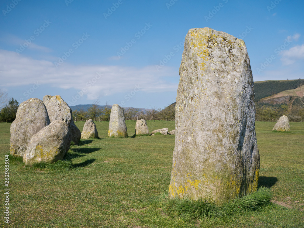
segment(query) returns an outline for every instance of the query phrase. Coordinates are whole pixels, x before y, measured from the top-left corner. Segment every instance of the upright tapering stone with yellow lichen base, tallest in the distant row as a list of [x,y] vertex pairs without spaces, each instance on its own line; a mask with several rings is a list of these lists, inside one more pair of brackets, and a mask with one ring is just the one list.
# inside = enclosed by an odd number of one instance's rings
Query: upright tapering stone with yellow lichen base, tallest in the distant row
[[114,104],[111,109],[110,124],[109,124],[109,137],[127,137],[127,127],[125,122],[125,114],[123,108],[118,104]]

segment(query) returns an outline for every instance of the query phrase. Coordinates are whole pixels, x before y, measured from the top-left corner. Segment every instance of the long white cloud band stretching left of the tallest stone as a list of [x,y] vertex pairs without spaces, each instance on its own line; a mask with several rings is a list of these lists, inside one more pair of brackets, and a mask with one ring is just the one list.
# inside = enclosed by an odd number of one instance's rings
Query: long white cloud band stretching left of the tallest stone
[[[88,99],[93,100],[99,95],[129,92],[135,85],[139,85],[142,87],[141,91],[148,93],[176,91],[179,79],[178,71],[166,66],[159,71],[155,66],[75,66],[67,63],[56,68],[50,61],[34,60],[1,49],[0,71],[0,86],[22,86],[38,81],[40,84],[62,89],[86,89]],[[102,76],[99,77],[97,73]]]

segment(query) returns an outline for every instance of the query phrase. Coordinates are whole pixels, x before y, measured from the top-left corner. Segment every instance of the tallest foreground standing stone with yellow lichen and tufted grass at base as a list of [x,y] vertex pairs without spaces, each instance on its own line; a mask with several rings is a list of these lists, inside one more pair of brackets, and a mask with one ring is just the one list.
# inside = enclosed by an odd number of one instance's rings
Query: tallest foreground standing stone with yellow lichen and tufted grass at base
[[260,157],[244,41],[190,29],[179,74],[169,196],[222,205],[256,191]]

